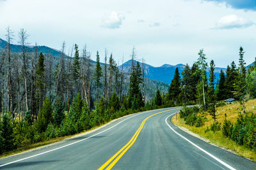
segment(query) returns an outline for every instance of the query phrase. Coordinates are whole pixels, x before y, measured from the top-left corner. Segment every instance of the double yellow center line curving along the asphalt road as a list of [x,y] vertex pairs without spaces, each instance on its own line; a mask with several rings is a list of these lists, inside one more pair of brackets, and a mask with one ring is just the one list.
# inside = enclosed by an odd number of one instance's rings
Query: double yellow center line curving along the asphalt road
[[[172,109],[172,110],[177,110],[177,109]],[[127,150],[129,150],[129,148],[131,148],[131,146],[134,144],[134,142],[138,138],[140,131],[143,128],[145,122],[148,120],[148,118],[153,117],[154,115],[157,115],[159,113],[166,112],[166,111],[171,111],[171,110],[161,111],[161,112],[155,113],[155,114],[150,115],[149,117],[145,118],[143,120],[143,122],[141,123],[139,129],[135,132],[135,134],[130,139],[130,141],[126,145],[124,145],[124,147],[121,148],[118,152],[116,152],[115,155],[113,155],[113,157],[111,157],[107,162],[105,162],[105,164],[100,166],[99,170],[104,169],[105,167],[106,167],[106,169],[111,169],[113,166],[115,166],[116,162],[118,162],[118,160],[124,155],[124,153],[127,152]],[[109,163],[111,163],[111,164],[108,166]]]

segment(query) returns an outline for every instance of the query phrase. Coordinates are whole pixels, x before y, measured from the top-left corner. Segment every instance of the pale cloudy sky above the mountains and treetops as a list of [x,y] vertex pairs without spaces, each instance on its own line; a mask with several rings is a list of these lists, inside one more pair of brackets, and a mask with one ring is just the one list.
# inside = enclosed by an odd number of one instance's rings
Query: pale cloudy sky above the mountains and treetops
[[256,57],[255,0],[0,0],[0,18],[2,39],[10,26],[17,43],[24,28],[31,45],[86,44],[94,60],[107,48],[126,61],[132,46],[152,66],[191,65],[201,48],[219,67],[238,62],[239,46],[246,63]]

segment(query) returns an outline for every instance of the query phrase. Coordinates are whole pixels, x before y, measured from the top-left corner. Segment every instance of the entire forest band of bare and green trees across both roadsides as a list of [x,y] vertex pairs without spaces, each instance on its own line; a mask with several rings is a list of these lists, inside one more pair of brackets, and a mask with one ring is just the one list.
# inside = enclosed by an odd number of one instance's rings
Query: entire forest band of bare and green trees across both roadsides
[[200,104],[214,118],[217,100],[234,97],[243,103],[245,111],[244,100],[256,97],[256,62],[246,69],[242,47],[239,67],[232,62],[226,74],[221,71],[217,85],[214,61],[211,60],[207,78],[208,64],[204,50],[200,50],[195,64],[187,64],[182,71],[182,78],[176,69],[168,92],[156,86],[158,90],[150,99],[145,95],[145,82],[151,80],[145,78],[143,65],[134,61],[134,48],[131,71],[127,74],[118,69],[112,54],[108,58],[107,51],[102,65],[99,52],[96,62],[92,62],[86,46],[79,50],[74,45],[70,55],[65,55],[63,43],[61,56],[56,59],[38,53],[36,46],[35,51],[29,52],[24,29],[19,32],[21,52],[12,52],[13,33],[9,28],[6,38],[8,43],[0,52],[0,153],[86,131],[138,111]]

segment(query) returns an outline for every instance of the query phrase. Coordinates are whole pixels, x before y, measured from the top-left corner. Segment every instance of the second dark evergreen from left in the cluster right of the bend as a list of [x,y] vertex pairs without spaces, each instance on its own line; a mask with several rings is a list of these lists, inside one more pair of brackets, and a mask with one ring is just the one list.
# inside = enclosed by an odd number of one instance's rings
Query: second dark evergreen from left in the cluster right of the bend
[[182,71],[182,94],[181,96],[184,98],[184,103],[188,103],[191,99],[192,94],[192,85],[191,85],[191,69],[188,64],[186,64],[184,70]]

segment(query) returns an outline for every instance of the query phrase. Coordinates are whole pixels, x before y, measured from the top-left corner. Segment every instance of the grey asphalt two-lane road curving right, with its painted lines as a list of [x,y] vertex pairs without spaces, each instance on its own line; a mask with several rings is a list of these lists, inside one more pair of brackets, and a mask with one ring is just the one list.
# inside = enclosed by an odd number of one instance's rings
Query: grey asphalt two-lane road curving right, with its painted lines
[[170,115],[178,111],[129,115],[86,136],[0,159],[0,169],[256,169],[175,127]]

